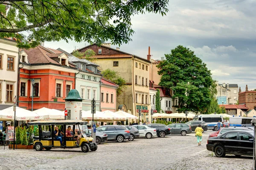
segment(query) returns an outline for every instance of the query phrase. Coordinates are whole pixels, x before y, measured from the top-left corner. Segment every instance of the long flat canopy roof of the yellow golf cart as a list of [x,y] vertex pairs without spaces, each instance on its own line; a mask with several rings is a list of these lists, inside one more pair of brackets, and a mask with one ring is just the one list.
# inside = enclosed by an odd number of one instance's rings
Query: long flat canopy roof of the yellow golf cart
[[86,125],[87,122],[81,120],[39,120],[29,122],[28,125]]

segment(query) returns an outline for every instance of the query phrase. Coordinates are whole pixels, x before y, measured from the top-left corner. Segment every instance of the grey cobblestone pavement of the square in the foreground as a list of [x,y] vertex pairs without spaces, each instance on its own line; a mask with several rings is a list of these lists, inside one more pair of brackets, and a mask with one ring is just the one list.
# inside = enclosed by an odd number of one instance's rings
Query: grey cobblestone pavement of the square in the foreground
[[197,146],[195,133],[186,136],[135,139],[132,142],[105,142],[95,152],[82,153],[81,148],[3,150],[0,147],[0,170],[249,170],[250,156],[217,158],[206,149],[209,133],[203,133]]

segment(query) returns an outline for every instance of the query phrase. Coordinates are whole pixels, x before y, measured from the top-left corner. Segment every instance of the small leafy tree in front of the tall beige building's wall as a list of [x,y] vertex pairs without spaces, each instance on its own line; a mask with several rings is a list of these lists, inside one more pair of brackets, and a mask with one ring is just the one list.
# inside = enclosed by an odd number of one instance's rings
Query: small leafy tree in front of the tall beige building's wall
[[125,90],[125,79],[122,78],[117,71],[113,71],[108,68],[102,71],[102,76],[119,85],[119,87],[116,89],[116,96],[119,96]]

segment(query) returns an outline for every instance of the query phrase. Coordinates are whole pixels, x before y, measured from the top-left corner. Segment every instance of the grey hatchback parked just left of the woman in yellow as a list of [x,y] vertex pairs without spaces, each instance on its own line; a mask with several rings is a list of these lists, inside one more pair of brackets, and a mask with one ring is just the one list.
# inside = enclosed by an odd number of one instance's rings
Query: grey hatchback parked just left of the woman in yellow
[[185,136],[187,133],[192,133],[191,127],[185,123],[172,123],[167,126],[170,127],[172,134]]

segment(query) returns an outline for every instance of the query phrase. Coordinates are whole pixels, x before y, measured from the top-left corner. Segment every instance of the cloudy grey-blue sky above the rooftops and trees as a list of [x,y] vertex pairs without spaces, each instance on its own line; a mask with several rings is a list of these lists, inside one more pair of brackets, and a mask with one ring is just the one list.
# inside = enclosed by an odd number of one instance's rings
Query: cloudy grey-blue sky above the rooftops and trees
[[[183,45],[195,51],[220,84],[238,84],[242,91],[245,85],[254,89],[255,7],[254,0],[170,0],[167,16],[145,14],[132,18],[136,34],[120,50],[146,58],[151,46],[153,59],[160,59]],[[45,42],[47,47],[68,52],[84,45],[89,44]]]

